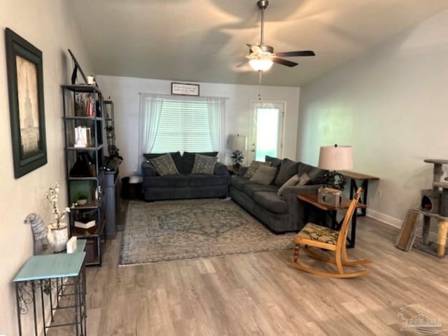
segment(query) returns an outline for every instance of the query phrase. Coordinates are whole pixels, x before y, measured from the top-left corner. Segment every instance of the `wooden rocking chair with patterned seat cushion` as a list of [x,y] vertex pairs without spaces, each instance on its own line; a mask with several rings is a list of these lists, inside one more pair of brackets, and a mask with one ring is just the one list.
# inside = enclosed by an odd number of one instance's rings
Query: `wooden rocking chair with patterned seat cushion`
[[[302,230],[300,230],[300,232],[295,237],[293,267],[297,269],[302,269],[303,271],[312,274],[321,276],[330,276],[333,278],[354,278],[356,276],[370,273],[370,270],[368,269],[362,269],[357,272],[344,271],[344,266],[356,266],[372,262],[372,260],[368,259],[351,261],[347,257],[347,251],[346,251],[346,237],[347,232],[349,230],[349,224],[351,223],[351,217],[353,216],[353,212],[356,211],[356,205],[358,204],[358,200],[362,191],[363,191],[362,188],[358,188],[358,190],[356,191],[356,195],[353,197],[349,209],[346,211],[344,221],[342,222],[339,231],[332,230],[330,228],[325,228],[321,225],[316,225],[314,223],[307,223],[307,225],[305,225],[302,228]],[[304,251],[307,252],[312,258],[336,264],[337,272],[325,272],[323,270],[305,266],[300,262],[298,262],[299,250],[301,245],[303,245]],[[313,251],[309,248],[310,246],[334,251],[335,253],[334,258],[329,258],[328,256],[323,255],[322,253]]]

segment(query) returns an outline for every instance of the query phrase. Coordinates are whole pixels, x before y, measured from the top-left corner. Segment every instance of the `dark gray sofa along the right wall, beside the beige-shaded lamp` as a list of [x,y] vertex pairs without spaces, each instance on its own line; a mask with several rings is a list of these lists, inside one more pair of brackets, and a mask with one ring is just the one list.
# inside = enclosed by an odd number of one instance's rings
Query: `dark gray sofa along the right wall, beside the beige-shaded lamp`
[[[300,230],[306,223],[304,211],[306,205],[297,199],[299,194],[317,193],[322,186],[326,171],[293,162],[289,159],[266,158],[272,167],[276,167],[276,174],[272,183],[264,185],[244,177],[248,167],[241,167],[239,176],[230,178],[230,197],[248,213],[258,218],[274,232],[288,232]],[[304,175],[304,173],[307,173]],[[309,181],[302,181],[304,185],[287,186],[281,196],[279,188],[293,175],[308,176]],[[316,217],[311,210],[310,220]]]

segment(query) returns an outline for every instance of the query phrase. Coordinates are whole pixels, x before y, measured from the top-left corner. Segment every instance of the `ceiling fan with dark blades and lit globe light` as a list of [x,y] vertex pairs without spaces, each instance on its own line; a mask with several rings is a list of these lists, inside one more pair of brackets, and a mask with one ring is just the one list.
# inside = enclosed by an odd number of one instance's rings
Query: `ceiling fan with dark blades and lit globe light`
[[[242,62],[238,66],[249,62],[252,69],[255,71],[267,71],[271,69],[273,63],[286,65],[286,66],[296,66],[298,63],[288,61],[288,59],[283,59],[280,57],[295,57],[295,56],[314,56],[316,55],[314,51],[311,50],[298,50],[298,51],[286,51],[286,52],[274,52],[274,48],[270,45],[264,45],[263,43],[263,33],[265,24],[265,9],[269,4],[268,0],[259,0],[257,2],[258,8],[261,9],[261,38],[260,45],[247,44],[249,47],[249,55],[246,55],[246,61]],[[238,67],[237,66],[237,67]]]

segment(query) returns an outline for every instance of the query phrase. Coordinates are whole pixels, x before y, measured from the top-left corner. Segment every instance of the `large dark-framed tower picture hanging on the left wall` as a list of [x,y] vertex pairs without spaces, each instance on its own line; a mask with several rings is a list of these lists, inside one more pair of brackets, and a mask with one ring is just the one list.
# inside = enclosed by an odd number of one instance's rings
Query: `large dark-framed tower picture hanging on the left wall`
[[47,163],[42,52],[9,28],[5,31],[14,177]]

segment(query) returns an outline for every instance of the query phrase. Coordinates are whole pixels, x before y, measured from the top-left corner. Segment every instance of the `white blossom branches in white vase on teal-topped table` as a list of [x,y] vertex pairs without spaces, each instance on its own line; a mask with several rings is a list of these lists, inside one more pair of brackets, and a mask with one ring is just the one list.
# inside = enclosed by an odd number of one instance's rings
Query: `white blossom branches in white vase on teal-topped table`
[[[45,199],[50,202],[52,207],[52,215],[55,218],[55,223],[50,222],[48,229],[52,232],[52,238],[55,244],[55,252],[61,252],[66,249],[66,243],[69,240],[69,231],[67,224],[62,223],[65,215],[70,212],[70,208],[66,207],[64,211],[59,211],[58,202],[59,184],[56,182],[54,187],[48,188],[48,193],[45,194]],[[74,205],[74,204],[73,204]]]

